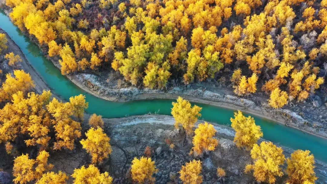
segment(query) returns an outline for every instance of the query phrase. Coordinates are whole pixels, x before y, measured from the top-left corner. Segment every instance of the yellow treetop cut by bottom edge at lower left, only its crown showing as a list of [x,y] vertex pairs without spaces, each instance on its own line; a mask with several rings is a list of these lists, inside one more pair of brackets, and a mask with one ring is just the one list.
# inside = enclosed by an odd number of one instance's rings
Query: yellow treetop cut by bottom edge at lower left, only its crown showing
[[47,172],[35,184],[66,184],[68,176],[59,171],[58,173]]

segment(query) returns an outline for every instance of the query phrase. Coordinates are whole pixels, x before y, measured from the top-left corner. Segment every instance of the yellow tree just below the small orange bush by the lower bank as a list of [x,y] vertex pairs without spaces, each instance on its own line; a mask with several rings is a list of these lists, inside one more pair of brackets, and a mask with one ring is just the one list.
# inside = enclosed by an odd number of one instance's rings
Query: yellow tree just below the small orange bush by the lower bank
[[94,129],[92,127],[85,133],[85,136],[87,139],[82,139],[80,143],[91,154],[92,163],[101,163],[105,158],[108,158],[112,152],[109,144],[110,138],[103,133],[102,128],[97,127]]

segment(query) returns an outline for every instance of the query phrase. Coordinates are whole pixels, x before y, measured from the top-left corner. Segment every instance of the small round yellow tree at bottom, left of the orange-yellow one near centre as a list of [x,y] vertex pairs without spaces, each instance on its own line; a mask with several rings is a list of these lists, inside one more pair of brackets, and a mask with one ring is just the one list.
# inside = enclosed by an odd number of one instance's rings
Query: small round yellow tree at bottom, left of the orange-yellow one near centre
[[138,183],[154,183],[155,178],[152,177],[154,173],[158,172],[154,161],[151,158],[142,156],[140,159],[134,158],[131,165],[132,179]]

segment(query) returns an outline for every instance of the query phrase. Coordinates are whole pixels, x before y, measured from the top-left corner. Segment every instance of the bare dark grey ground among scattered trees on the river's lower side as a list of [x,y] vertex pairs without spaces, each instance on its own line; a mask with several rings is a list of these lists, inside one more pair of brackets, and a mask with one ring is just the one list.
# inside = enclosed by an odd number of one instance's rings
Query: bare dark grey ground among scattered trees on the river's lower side
[[[90,128],[88,119],[90,115],[85,114],[82,122],[82,137],[85,138],[85,132]],[[189,160],[194,159],[188,153],[192,148],[192,140],[184,138],[184,134],[175,130],[174,118],[167,115],[138,115],[126,118],[103,119],[104,131],[111,138],[112,153],[109,159],[98,165],[101,172],[109,172],[114,178],[115,184],[132,183],[130,181],[130,162],[134,157],[144,156],[146,146],[151,147],[151,157],[155,161],[159,172],[154,175],[156,183],[178,183],[178,171],[181,166]],[[202,120],[198,120],[196,127]],[[214,151],[205,153],[202,158],[203,183],[211,184],[217,182],[216,168],[221,167],[226,171],[224,178],[225,184],[248,184],[254,183],[255,179],[251,173],[245,174],[244,168],[252,162],[250,152],[238,149],[234,142],[234,131],[231,127],[213,123],[217,130],[215,138],[219,140],[219,144]],[[169,148],[167,139],[174,144],[174,148]],[[265,141],[260,139],[258,142]],[[276,145],[278,145],[276,143]],[[278,145],[280,146],[280,145]],[[289,157],[293,150],[281,146],[284,150],[285,157]],[[80,168],[82,165],[91,162],[91,156],[86,153],[80,143],[76,142],[76,148],[72,151],[67,150],[49,150],[49,163],[54,164],[52,171],[65,172],[71,175],[74,168]],[[0,148],[0,154],[4,157],[0,158],[3,163],[1,167],[6,168],[5,171],[11,173],[12,156],[5,153],[4,148]],[[10,167],[8,167],[10,165]],[[327,166],[316,160],[315,172],[318,180],[317,184],[327,182]],[[286,164],[282,166],[283,171]],[[287,175],[277,178],[276,183],[284,183]],[[72,182],[72,178],[68,183]]]

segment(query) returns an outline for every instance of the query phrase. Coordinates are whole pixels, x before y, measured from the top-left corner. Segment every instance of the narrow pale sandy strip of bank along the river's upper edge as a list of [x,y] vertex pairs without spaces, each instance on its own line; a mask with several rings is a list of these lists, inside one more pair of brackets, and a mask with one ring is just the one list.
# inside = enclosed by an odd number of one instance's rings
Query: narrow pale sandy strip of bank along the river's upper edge
[[[55,61],[51,61],[55,63]],[[211,91],[207,90],[205,87],[194,89],[188,86],[175,87],[167,91],[138,89],[136,87],[110,89],[103,84],[103,81],[97,80],[98,77],[92,74],[75,74],[69,75],[67,78],[88,93],[108,101],[127,102],[135,100],[177,99],[181,96],[192,102],[204,103],[232,110],[241,110],[327,139],[327,127],[325,127],[325,124],[304,119],[297,112],[290,109],[272,109],[267,102],[258,105],[252,100],[234,96],[231,90],[217,89]],[[314,125],[315,127],[310,125]],[[324,128],[319,130],[317,129],[317,125]]]

